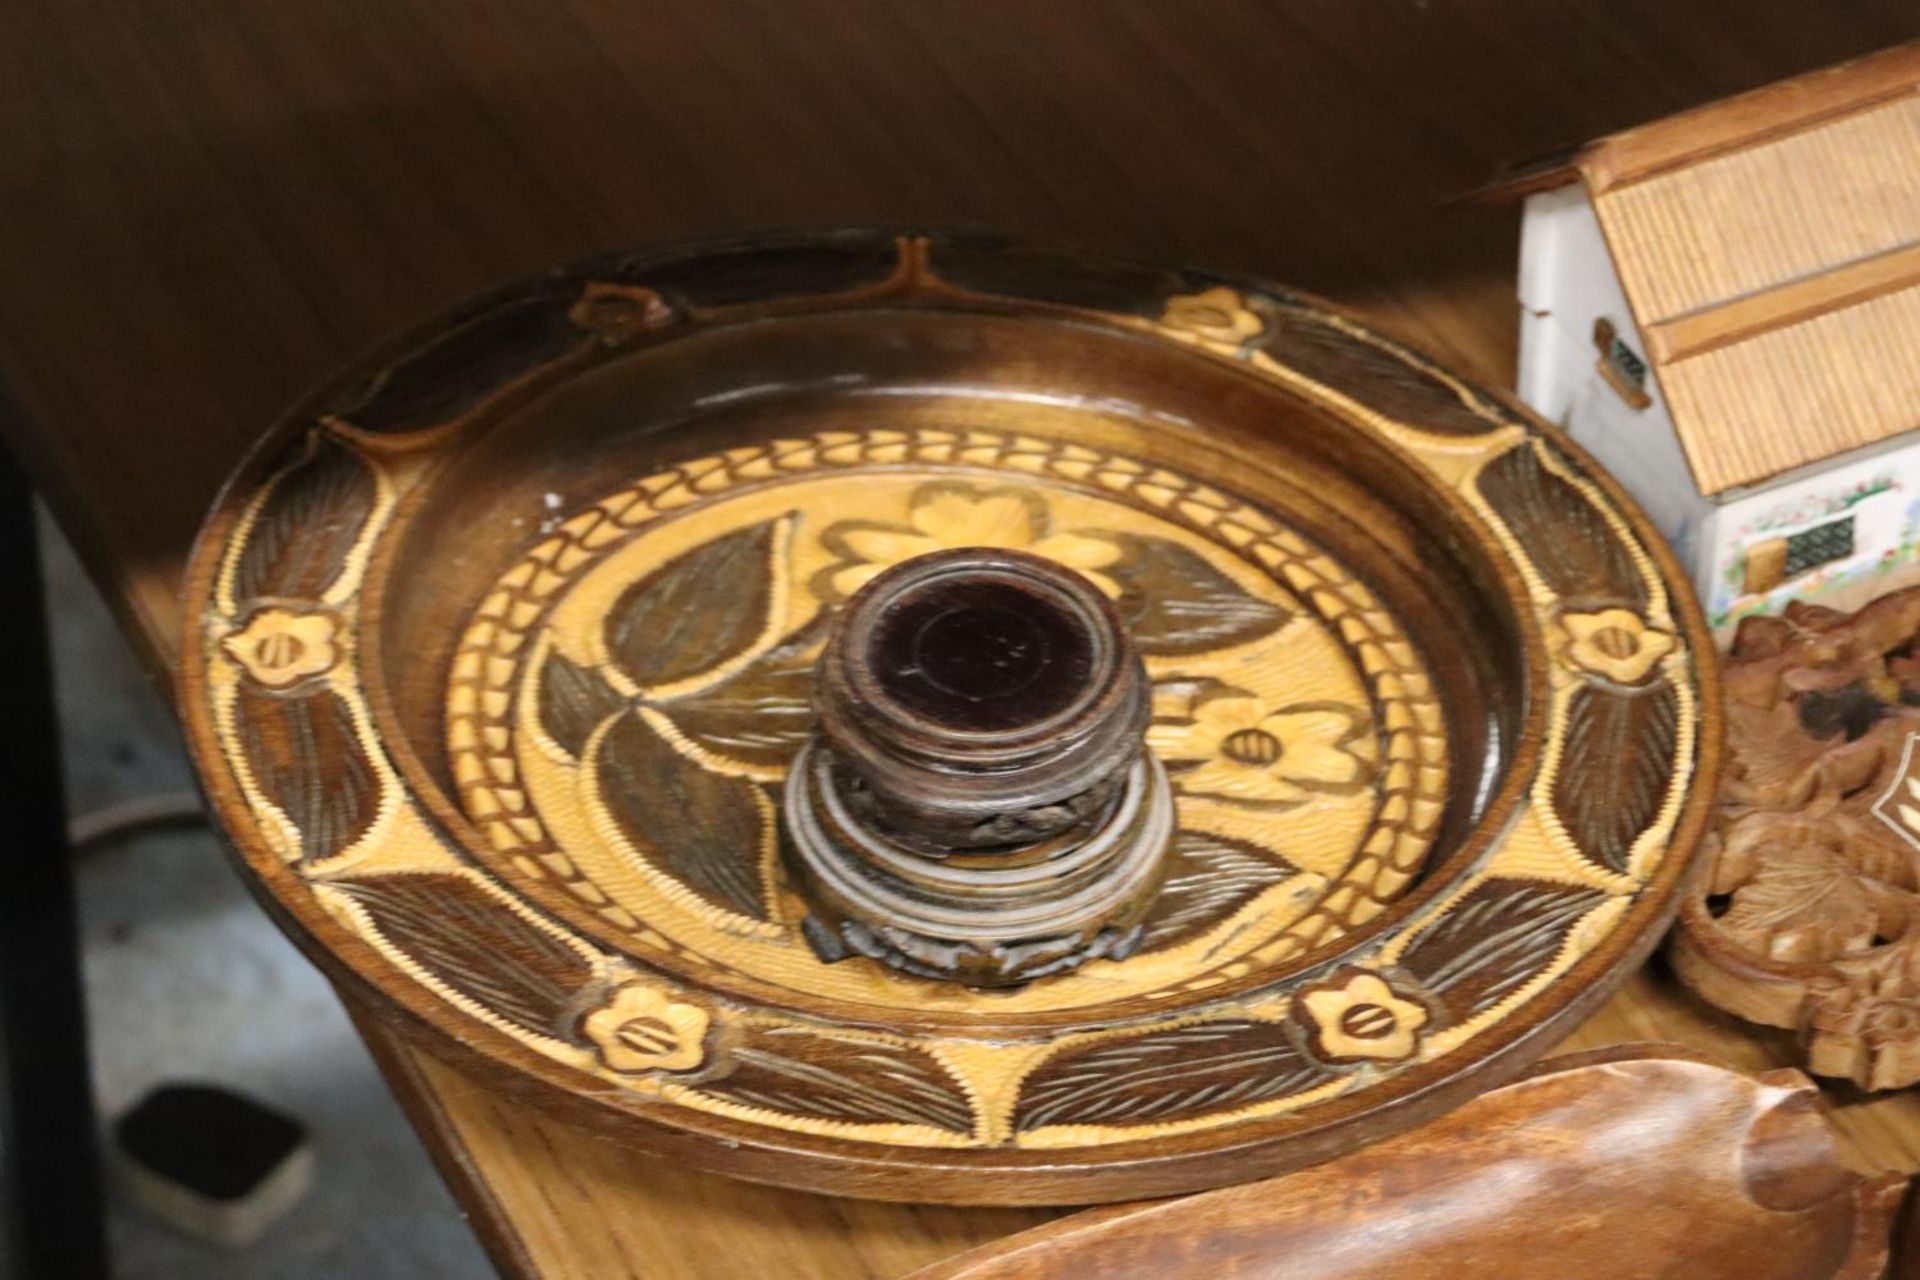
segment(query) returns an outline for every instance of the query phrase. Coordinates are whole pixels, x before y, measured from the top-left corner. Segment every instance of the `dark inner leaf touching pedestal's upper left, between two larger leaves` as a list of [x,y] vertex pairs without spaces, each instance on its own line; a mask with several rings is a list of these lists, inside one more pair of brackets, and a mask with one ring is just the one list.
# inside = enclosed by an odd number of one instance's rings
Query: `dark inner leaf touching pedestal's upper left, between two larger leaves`
[[826,614],[733,676],[662,702],[660,710],[714,754],[755,766],[785,766],[814,729],[814,660],[826,635],[824,622]]

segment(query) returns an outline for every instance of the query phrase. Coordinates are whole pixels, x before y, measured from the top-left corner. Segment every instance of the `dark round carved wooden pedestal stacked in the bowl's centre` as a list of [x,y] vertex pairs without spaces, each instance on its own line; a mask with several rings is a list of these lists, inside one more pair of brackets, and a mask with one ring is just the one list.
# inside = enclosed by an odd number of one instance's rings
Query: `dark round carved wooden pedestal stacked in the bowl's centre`
[[906,560],[835,622],[816,712],[781,833],[816,956],[1012,986],[1139,950],[1173,793],[1091,581],[985,547]]

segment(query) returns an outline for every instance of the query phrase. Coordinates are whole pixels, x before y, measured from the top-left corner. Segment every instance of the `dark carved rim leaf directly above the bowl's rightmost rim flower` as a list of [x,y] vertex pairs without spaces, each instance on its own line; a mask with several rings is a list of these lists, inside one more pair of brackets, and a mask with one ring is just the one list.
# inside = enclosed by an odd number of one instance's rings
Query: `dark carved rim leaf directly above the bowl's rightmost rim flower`
[[1647,585],[1619,533],[1586,493],[1519,445],[1480,472],[1480,493],[1567,608],[1647,608]]

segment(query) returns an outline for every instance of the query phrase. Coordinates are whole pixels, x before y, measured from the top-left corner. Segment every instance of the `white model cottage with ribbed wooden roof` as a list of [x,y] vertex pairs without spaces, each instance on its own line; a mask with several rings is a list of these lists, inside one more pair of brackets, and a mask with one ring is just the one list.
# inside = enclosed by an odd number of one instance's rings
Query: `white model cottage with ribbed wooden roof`
[[1853,608],[1920,541],[1920,46],[1582,148],[1528,192],[1521,397],[1726,629]]

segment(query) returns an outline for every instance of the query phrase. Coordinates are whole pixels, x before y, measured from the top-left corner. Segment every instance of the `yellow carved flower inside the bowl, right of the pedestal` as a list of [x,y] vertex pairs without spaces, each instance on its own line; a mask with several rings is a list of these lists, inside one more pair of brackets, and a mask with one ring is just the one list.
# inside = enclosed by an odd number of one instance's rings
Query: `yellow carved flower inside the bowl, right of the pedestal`
[[1373,779],[1373,764],[1354,750],[1365,727],[1367,718],[1344,702],[1271,706],[1229,693],[1152,725],[1146,741],[1187,794],[1304,804],[1313,793],[1352,793]]

